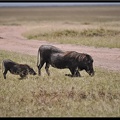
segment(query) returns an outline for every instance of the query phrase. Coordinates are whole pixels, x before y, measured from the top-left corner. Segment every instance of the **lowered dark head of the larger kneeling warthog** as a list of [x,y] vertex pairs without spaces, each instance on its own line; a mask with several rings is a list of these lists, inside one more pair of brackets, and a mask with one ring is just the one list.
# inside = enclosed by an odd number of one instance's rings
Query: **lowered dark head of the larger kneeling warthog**
[[86,54],[86,56],[83,59],[84,65],[85,65],[85,71],[90,75],[94,76],[94,69],[93,69],[93,59],[90,55]]

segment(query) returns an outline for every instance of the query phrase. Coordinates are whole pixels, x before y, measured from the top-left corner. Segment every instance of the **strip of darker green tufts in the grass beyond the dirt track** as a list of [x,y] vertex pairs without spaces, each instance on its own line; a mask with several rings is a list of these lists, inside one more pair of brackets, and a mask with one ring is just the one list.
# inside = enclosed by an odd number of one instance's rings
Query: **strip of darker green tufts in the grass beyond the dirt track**
[[[117,30],[107,30],[104,28],[99,28],[99,29],[85,29],[82,31],[77,31],[77,30],[70,30],[70,29],[65,29],[65,30],[56,30],[53,32],[46,32],[46,33],[38,33],[36,35],[28,35],[28,39],[38,39],[40,37],[80,37],[80,36],[85,36],[85,37],[96,37],[96,36],[116,36],[119,35],[120,31]],[[67,39],[67,38],[66,38]]]

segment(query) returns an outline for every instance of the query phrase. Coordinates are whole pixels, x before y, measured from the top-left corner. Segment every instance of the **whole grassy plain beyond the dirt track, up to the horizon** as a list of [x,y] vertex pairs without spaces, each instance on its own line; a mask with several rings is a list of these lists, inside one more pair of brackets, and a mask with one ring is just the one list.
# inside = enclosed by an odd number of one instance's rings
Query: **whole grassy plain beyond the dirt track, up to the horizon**
[[0,25],[25,25],[23,36],[61,44],[120,48],[120,7],[0,8]]

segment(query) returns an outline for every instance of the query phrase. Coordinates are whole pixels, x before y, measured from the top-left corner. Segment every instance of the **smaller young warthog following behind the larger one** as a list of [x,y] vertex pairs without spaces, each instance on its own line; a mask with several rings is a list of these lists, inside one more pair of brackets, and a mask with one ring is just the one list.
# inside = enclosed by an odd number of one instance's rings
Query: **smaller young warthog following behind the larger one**
[[6,59],[2,62],[2,70],[4,79],[6,79],[6,74],[8,71],[15,75],[20,75],[21,78],[25,77],[28,74],[36,75],[36,72],[27,64],[18,64],[12,60]]

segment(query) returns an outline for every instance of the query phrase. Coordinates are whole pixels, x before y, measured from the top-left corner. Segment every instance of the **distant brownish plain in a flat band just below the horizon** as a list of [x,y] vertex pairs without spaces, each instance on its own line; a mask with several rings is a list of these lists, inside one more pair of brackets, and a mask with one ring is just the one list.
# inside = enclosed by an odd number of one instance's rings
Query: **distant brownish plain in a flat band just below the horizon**
[[15,21],[38,24],[41,21],[77,21],[85,24],[93,21],[110,22],[119,21],[119,12],[119,6],[0,8],[2,23]]

